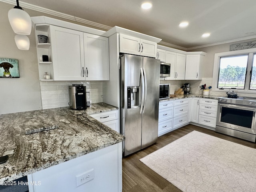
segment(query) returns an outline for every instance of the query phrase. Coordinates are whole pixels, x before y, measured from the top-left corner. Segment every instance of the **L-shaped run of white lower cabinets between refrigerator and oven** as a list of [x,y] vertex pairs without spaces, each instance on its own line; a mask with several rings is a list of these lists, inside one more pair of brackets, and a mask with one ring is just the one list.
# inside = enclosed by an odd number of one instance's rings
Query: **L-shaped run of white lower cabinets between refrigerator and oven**
[[184,98],[159,102],[158,136],[190,122],[206,128],[216,128],[218,100]]

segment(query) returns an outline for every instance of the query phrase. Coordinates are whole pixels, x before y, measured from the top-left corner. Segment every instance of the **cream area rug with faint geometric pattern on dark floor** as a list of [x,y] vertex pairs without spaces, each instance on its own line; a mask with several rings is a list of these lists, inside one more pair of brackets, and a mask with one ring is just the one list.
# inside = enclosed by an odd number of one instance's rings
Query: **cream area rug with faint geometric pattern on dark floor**
[[193,131],[140,159],[183,192],[255,192],[256,149]]

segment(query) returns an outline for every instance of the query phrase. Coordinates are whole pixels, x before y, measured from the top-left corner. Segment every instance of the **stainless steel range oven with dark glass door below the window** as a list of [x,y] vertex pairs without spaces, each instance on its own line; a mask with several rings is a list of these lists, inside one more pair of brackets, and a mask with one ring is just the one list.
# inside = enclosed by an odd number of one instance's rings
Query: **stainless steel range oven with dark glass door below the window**
[[216,132],[255,142],[256,98],[219,98]]

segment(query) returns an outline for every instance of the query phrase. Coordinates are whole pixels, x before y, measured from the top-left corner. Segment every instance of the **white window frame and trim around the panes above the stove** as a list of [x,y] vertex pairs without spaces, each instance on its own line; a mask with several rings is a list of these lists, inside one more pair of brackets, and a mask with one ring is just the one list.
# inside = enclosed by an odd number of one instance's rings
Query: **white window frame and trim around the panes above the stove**
[[248,63],[246,67],[246,77],[244,83],[244,89],[236,89],[236,92],[239,93],[256,93],[256,90],[249,89],[250,88],[250,70],[252,70],[252,62],[253,56],[256,54],[256,48],[252,49],[244,49],[237,51],[228,51],[214,54],[214,66],[213,66],[213,75],[212,75],[212,91],[218,92],[227,92],[229,88],[223,88],[223,90],[217,88],[218,85],[218,77],[219,77],[219,65],[220,58],[225,56],[237,56],[242,54],[248,54]]

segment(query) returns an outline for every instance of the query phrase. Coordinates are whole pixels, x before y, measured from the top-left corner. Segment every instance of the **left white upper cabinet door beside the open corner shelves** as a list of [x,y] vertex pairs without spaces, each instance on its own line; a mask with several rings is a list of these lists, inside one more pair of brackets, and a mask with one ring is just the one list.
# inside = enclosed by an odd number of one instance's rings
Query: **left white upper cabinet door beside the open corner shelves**
[[83,32],[50,26],[54,80],[85,80]]

